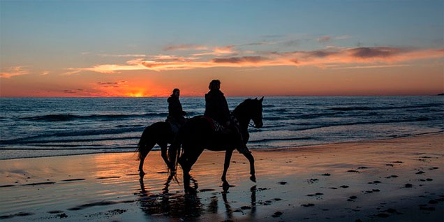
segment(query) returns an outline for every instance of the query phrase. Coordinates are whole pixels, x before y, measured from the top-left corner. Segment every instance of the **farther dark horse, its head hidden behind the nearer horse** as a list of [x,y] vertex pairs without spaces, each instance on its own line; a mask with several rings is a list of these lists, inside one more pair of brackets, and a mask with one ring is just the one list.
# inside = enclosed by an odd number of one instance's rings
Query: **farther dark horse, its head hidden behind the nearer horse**
[[158,121],[151,126],[147,126],[140,137],[138,149],[136,151],[139,152],[139,174],[145,175],[143,171],[143,162],[147,157],[149,151],[153,149],[154,145],[158,145],[161,147],[161,156],[163,161],[168,165],[169,168],[172,168],[170,165],[170,161],[168,161],[167,149],[168,144],[172,143],[174,140],[175,134],[171,130],[171,125],[165,121]]

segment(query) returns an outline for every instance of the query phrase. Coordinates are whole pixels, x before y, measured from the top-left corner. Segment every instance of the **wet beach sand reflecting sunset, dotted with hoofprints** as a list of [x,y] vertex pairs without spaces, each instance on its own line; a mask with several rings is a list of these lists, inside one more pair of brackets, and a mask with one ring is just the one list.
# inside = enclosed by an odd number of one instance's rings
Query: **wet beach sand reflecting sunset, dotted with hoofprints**
[[[2,221],[444,221],[444,134],[253,151],[204,151],[185,195],[159,151],[0,161]],[[166,185],[165,185],[166,184]]]

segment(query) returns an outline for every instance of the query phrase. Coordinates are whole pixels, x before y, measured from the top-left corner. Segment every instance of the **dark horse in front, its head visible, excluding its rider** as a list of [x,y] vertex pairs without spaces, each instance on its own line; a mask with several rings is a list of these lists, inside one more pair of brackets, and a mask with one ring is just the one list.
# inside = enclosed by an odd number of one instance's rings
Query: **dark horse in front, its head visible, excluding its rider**
[[[249,140],[248,127],[251,120],[254,122],[254,127],[262,127],[262,100],[260,99],[246,99],[240,103],[232,112],[232,115],[239,121],[239,130],[242,133],[244,142]],[[234,132],[233,132],[234,133]],[[180,145],[182,145],[183,153],[181,154]],[[200,154],[204,149],[212,151],[225,150],[225,163],[223,168],[222,182],[223,187],[229,186],[226,175],[230,167],[230,159],[232,151],[239,145],[236,144],[236,138],[232,133],[214,133],[212,124],[208,119],[200,117],[193,117],[189,119],[184,126],[179,130],[177,138],[168,150],[171,165],[177,165],[177,162],[182,166],[184,171],[184,188],[189,190],[189,172],[191,167],[198,160]],[[177,156],[177,159],[176,159]],[[254,158],[250,153],[244,154],[250,162],[251,181],[256,182],[256,175],[254,170]]]

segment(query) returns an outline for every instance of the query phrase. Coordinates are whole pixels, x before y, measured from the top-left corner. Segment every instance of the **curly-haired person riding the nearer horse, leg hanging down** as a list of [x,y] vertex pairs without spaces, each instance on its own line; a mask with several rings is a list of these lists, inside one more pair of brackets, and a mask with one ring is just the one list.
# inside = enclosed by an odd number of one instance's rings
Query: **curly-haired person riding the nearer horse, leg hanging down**
[[237,124],[235,124],[230,116],[230,110],[228,109],[228,103],[223,96],[221,89],[221,81],[212,80],[209,83],[209,92],[205,94],[205,117],[212,118],[219,124],[225,126],[225,133],[233,133],[237,141],[237,151],[241,154],[249,154],[248,147],[242,138],[242,134],[239,131]]

